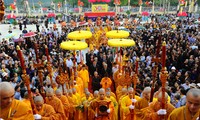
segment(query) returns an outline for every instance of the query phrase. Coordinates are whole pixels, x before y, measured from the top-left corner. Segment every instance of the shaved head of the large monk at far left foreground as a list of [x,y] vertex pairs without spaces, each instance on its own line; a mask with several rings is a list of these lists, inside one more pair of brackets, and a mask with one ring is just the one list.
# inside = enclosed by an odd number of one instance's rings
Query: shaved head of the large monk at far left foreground
[[14,99],[14,88],[9,82],[0,83],[0,108],[6,108],[11,105]]

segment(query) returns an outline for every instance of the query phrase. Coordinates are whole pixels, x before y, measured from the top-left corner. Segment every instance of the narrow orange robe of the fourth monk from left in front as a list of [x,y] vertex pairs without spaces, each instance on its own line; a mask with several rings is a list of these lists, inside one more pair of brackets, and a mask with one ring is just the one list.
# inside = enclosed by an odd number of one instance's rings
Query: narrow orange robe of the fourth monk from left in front
[[62,95],[60,100],[61,100],[61,102],[62,102],[62,104],[64,106],[65,116],[68,119],[68,117],[69,117],[69,109],[70,109],[70,103],[68,101],[68,98],[66,96]]

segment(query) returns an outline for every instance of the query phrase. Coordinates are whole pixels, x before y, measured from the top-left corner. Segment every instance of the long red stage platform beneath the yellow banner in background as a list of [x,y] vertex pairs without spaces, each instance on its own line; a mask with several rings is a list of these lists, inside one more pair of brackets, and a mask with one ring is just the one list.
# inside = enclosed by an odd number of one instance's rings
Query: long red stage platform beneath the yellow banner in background
[[86,17],[106,17],[115,16],[115,12],[85,12]]

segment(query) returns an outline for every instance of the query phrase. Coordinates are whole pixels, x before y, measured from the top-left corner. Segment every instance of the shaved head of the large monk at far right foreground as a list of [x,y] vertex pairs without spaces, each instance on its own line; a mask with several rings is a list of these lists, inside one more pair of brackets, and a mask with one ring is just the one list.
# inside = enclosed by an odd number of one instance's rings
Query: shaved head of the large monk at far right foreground
[[200,110],[200,89],[190,89],[186,96],[186,106],[191,113],[195,114]]

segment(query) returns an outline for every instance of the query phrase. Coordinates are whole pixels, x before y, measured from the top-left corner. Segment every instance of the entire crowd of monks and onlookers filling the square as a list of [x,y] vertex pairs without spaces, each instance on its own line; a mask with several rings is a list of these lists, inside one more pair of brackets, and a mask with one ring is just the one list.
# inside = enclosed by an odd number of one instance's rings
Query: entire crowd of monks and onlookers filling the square
[[[177,19],[174,14],[98,17],[95,22],[80,16],[58,28],[38,26],[37,35],[26,27],[20,38],[24,42],[2,39],[0,43],[0,118],[63,120],[197,120],[200,119],[200,26],[193,17]],[[87,22],[88,21],[88,22]],[[133,47],[114,48],[107,44],[106,32],[123,28],[135,41]],[[88,51],[62,50],[60,44],[76,30],[92,32],[86,39]],[[9,31],[9,32],[12,32]],[[159,42],[161,41],[161,42]],[[162,94],[161,63],[154,61],[166,42],[166,93]],[[160,43],[160,44],[158,44]],[[30,77],[31,101],[22,79],[22,67],[16,46],[20,46]],[[35,47],[37,45],[37,47]],[[51,70],[48,69],[48,47]],[[136,59],[138,79],[134,89]],[[37,62],[38,61],[38,62]],[[76,61],[74,67],[74,61]],[[37,67],[42,64],[43,67]],[[153,75],[155,65],[158,72]],[[122,67],[121,67],[122,66]],[[76,70],[74,70],[76,69]],[[39,71],[42,70],[42,76]],[[77,71],[77,72],[75,72]],[[74,73],[75,72],[75,73]],[[59,84],[58,76],[66,75]],[[155,77],[155,78],[154,78]],[[156,79],[156,82],[152,82]],[[43,82],[43,83],[41,83]],[[151,87],[154,99],[150,102]],[[163,96],[165,99],[163,99]],[[14,99],[13,99],[14,98]],[[164,101],[164,102],[163,102]],[[31,106],[34,103],[34,110]],[[162,104],[165,103],[164,109]]]

